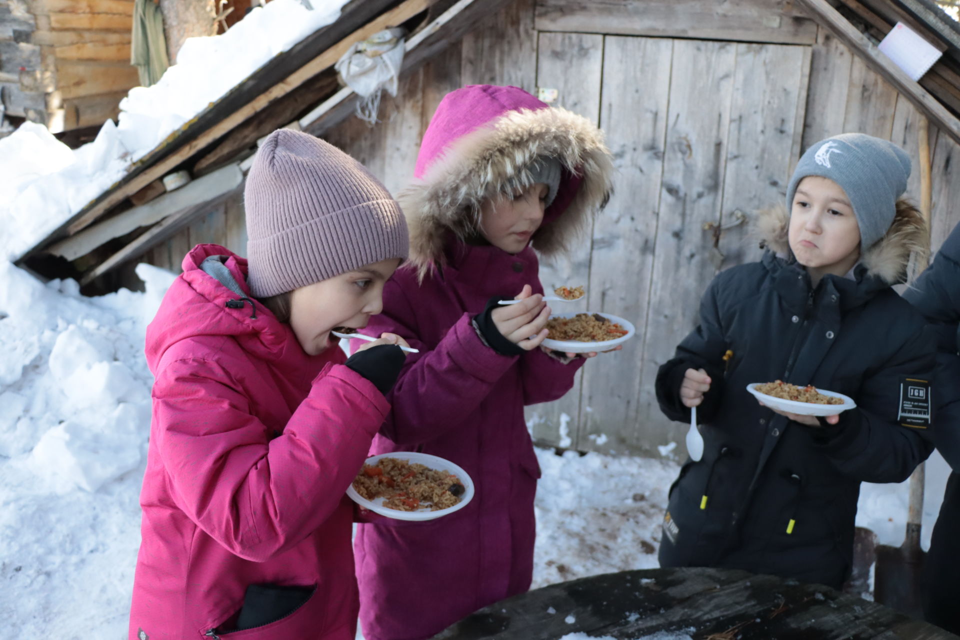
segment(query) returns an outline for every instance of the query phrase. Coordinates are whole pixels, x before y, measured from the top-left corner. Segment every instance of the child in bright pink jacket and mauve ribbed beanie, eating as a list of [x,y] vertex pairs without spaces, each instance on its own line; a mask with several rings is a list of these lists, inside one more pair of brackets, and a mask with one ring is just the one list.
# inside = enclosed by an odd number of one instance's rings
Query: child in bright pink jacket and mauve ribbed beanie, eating
[[[407,258],[357,161],[277,130],[246,185],[249,258],[200,245],[147,329],[156,376],[130,637],[353,640],[345,491],[389,414],[396,334],[347,359]],[[296,611],[296,615],[291,615]]]

